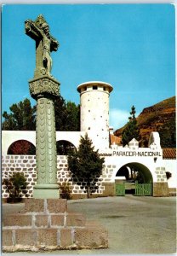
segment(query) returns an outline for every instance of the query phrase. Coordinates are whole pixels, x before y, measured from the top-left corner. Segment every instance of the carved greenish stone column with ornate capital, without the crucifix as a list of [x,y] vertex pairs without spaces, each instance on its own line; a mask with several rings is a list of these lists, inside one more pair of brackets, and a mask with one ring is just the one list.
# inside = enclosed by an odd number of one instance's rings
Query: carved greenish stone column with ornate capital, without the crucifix
[[60,83],[45,75],[29,84],[31,96],[37,100],[37,184],[33,197],[59,198],[53,99],[59,96]]

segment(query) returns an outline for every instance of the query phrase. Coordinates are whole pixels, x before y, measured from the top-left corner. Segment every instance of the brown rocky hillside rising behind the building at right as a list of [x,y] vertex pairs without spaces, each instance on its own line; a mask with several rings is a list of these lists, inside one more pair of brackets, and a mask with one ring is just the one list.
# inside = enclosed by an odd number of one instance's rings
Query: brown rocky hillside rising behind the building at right
[[[161,145],[166,148],[175,148],[175,96],[144,108],[137,117],[140,128],[141,146],[147,146],[151,131],[158,131]],[[121,137],[123,128],[117,129],[114,135]]]

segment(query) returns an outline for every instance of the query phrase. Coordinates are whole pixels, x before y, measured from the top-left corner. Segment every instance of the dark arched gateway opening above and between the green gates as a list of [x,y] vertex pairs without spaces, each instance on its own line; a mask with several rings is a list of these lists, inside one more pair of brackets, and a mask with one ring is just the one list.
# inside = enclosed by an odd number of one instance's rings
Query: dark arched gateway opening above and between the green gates
[[134,194],[135,183],[144,184],[152,182],[153,177],[149,168],[138,162],[123,165],[118,169],[115,178],[116,185],[124,184],[125,194]]

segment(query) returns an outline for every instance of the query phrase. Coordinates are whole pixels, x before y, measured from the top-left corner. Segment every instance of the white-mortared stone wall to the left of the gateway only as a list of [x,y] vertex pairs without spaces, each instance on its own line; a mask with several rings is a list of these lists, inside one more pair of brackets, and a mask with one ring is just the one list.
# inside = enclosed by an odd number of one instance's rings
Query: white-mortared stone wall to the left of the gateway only
[[[104,165],[102,175],[96,179],[91,187],[91,193],[94,196],[106,196],[106,184],[111,182],[111,176],[116,166]],[[22,197],[32,197],[33,186],[37,183],[36,156],[35,155],[3,155],[2,158],[2,179],[8,178],[14,172],[23,172],[26,177],[27,193]],[[61,185],[68,183],[71,187],[72,198],[84,198],[87,195],[85,189],[86,181],[84,178],[71,178],[71,172],[68,171],[66,155],[57,156],[57,181]],[[9,195],[2,186],[3,198]],[[111,191],[111,195],[113,192]]]

